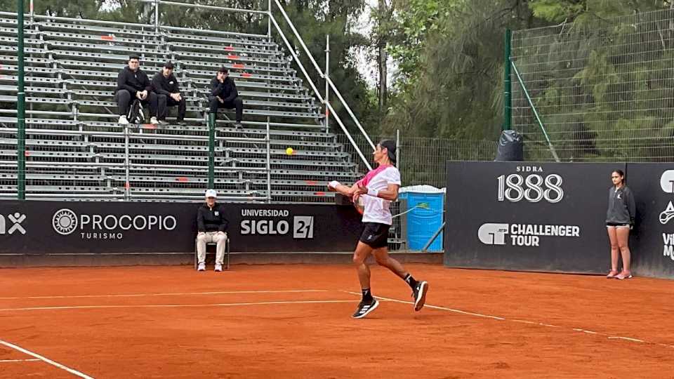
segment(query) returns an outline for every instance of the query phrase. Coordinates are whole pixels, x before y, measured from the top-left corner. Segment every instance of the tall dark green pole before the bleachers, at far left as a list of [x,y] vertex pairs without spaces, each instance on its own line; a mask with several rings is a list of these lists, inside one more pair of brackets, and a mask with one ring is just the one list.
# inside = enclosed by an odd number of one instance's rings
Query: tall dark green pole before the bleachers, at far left
[[16,102],[16,121],[18,124],[18,135],[16,136],[18,146],[17,154],[17,198],[26,199],[26,93],[23,88],[23,0],[17,0],[16,28],[18,36],[18,93]]

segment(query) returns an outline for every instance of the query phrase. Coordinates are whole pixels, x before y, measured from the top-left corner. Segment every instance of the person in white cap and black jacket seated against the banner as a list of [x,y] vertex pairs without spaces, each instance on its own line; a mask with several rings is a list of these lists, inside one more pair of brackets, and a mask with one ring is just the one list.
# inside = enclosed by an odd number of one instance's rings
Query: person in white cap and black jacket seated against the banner
[[206,203],[197,211],[197,271],[206,271],[206,244],[216,246],[216,271],[223,270],[225,260],[225,244],[227,243],[227,225],[225,206],[216,203],[218,192],[215,189],[206,191]]

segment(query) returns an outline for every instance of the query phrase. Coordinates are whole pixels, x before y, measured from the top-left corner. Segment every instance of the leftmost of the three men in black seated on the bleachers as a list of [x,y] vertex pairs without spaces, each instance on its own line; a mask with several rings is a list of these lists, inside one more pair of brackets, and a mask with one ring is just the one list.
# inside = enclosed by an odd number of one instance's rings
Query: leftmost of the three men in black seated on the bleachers
[[[157,121],[157,112],[164,112],[164,105],[158,104],[157,94],[152,92],[150,79],[147,74],[140,70],[140,59],[138,55],[128,57],[128,66],[117,75],[117,93],[114,100],[117,101],[119,110],[119,124],[127,125],[128,106],[132,98],[138,98],[143,105],[150,105],[150,122],[159,124]],[[159,109],[157,109],[159,108]]]

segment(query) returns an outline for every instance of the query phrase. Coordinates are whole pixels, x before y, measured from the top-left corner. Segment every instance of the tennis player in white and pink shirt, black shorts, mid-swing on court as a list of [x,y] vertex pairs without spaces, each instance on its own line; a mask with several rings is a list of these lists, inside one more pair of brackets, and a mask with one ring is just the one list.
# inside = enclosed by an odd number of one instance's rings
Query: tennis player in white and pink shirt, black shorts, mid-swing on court
[[395,164],[395,142],[383,140],[374,150],[374,161],[378,167],[370,171],[364,178],[358,180],[352,187],[342,185],[333,180],[328,188],[345,196],[351,197],[357,204],[362,197],[364,205],[363,232],[353,253],[353,262],[358,271],[358,279],[362,288],[363,298],[352,317],[362,319],[378,307],[379,302],[372,295],[370,289],[370,269],[365,260],[373,254],[378,265],[384,266],[403,279],[412,288],[414,310],[421,310],[428,292],[428,283],[416,281],[409,272],[405,271],[400,262],[388,255],[388,230],[393,222],[390,211],[391,201],[398,197],[400,187],[400,171]]

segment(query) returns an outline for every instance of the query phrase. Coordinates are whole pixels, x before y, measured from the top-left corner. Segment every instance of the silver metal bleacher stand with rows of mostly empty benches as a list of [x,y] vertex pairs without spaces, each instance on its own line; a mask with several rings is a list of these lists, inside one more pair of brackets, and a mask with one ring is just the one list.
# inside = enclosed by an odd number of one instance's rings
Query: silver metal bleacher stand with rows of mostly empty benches
[[[0,12],[0,199],[17,194],[16,25],[15,14]],[[168,125],[117,124],[117,73],[130,53],[150,77],[176,65],[187,126],[172,122],[176,108]],[[27,199],[201,199],[206,95],[223,65],[244,99],[243,128],[233,111],[218,114],[214,182],[223,199],[331,201],[326,181],[355,179],[357,164],[326,128],[320,102],[270,37],[36,15],[25,21]]]

